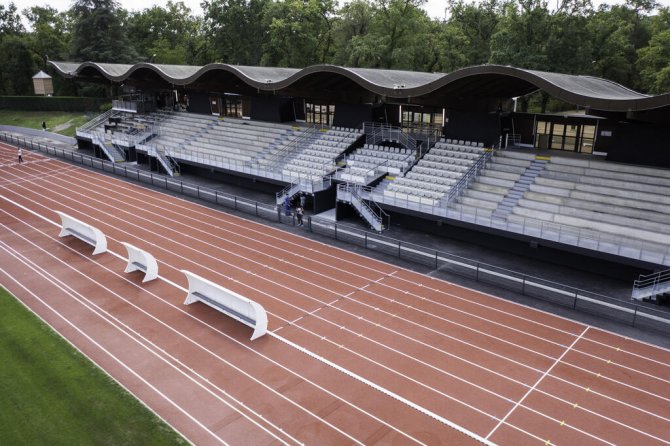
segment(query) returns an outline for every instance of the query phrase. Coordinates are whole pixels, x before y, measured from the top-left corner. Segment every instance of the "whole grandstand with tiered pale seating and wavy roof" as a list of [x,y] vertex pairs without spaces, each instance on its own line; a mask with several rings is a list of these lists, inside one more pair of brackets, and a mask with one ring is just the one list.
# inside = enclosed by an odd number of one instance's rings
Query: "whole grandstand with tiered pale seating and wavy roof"
[[[143,75],[92,62],[50,63],[84,81],[132,86]],[[270,68],[217,64],[191,70],[227,74],[202,88],[198,74],[187,79],[170,66],[143,67],[165,80],[156,90],[181,101],[171,108],[189,112],[141,113],[142,104],[134,110],[123,101],[79,129],[81,148],[168,175],[186,170],[265,182],[277,204],[308,194],[312,214],[358,213],[380,231],[388,227],[384,215],[391,222],[407,216],[403,221],[422,228],[439,222],[431,229],[437,233],[451,225],[521,239],[529,249],[545,245],[644,270],[670,266],[665,96],[498,66],[448,75],[317,66],[286,69],[279,79]],[[236,84],[225,80],[231,77]],[[188,85],[188,94],[175,85]],[[513,98],[537,89],[590,115],[512,110]],[[634,146],[632,134],[642,134],[644,146]]]

